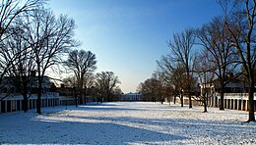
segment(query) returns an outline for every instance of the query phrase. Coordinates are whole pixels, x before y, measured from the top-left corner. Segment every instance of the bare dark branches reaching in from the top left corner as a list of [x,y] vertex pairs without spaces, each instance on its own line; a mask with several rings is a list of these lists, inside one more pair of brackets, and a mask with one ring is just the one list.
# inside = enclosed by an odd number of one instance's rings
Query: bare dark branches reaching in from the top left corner
[[0,83],[3,77],[9,71],[10,67],[18,58],[18,54],[13,56],[6,55],[6,52],[12,51],[3,40],[8,39],[12,34],[9,29],[12,29],[12,24],[17,18],[25,15],[30,15],[32,11],[40,8],[45,0],[1,0],[0,2]]

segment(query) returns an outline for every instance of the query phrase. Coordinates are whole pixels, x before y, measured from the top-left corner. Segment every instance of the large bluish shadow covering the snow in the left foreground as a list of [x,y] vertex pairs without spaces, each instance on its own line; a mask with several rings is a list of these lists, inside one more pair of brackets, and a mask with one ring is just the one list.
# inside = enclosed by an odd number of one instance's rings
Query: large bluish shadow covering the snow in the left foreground
[[[171,142],[184,136],[111,122],[51,121],[31,119],[4,131],[0,143],[15,144],[132,144]],[[14,126],[9,126],[14,127]],[[9,136],[9,137],[8,137]],[[12,136],[12,137],[11,137]]]

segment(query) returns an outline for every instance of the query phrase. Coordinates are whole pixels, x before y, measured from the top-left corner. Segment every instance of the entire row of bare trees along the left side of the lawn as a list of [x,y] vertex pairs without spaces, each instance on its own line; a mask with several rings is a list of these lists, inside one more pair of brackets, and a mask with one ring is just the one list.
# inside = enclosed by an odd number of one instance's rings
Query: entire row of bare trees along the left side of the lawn
[[[56,16],[45,8],[46,0],[2,0],[0,3],[0,89],[13,85],[10,93],[22,94],[23,109],[37,95],[36,113],[41,114],[41,95],[47,71],[73,73],[63,82],[74,87],[78,96],[86,95],[87,87],[95,86],[98,94],[109,97],[119,91],[120,83],[112,72],[94,74],[96,55],[79,50],[74,38],[76,24],[67,15]],[[6,77],[9,77],[6,79]],[[71,81],[72,80],[72,81]],[[102,89],[103,88],[103,89]]]

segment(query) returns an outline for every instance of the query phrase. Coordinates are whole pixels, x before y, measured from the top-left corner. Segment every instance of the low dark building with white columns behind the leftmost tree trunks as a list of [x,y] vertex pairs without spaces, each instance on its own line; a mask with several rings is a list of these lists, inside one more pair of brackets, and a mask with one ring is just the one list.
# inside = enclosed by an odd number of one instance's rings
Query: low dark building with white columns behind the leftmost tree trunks
[[[15,77],[6,76],[0,84],[0,113],[22,111],[24,109],[24,97],[10,82]],[[28,109],[36,108],[36,90],[37,81],[32,80],[29,83]],[[61,97],[57,92],[50,92],[52,82],[49,77],[43,77],[41,107],[52,107],[61,105]]]

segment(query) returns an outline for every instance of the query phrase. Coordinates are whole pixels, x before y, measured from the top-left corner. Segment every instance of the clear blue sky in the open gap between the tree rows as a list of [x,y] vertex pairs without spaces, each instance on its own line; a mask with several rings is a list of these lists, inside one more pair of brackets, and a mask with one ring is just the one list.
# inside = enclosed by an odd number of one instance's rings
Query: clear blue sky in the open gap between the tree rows
[[96,73],[115,73],[124,93],[157,70],[174,32],[222,14],[216,0],[51,0],[47,7],[75,20],[80,49],[96,54]]

